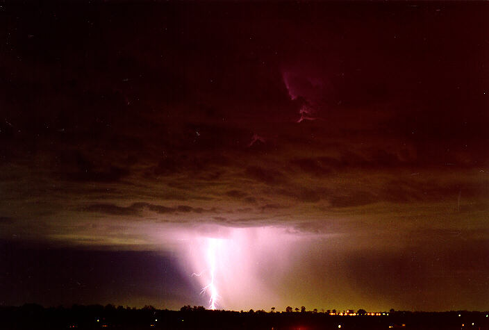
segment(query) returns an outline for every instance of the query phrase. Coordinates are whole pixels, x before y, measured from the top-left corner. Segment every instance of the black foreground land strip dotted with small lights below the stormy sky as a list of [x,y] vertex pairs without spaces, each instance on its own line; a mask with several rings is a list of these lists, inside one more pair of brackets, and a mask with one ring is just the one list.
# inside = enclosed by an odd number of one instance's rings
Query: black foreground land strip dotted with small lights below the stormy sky
[[[460,316],[459,316],[460,315]],[[487,312],[395,312],[340,316],[326,313],[266,313],[157,310],[151,307],[38,305],[0,307],[0,329],[489,329]]]

